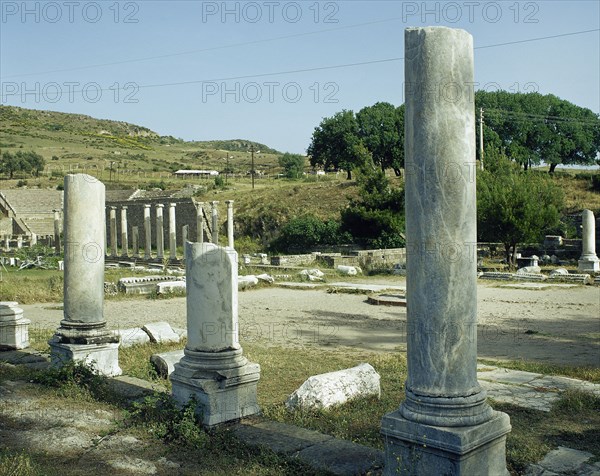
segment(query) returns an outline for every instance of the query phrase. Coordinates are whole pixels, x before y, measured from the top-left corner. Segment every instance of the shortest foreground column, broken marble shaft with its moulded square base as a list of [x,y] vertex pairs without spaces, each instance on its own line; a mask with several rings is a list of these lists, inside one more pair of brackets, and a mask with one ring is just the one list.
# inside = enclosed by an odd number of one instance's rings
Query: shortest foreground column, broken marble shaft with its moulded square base
[[195,397],[206,426],[254,415],[260,366],[243,356],[238,339],[237,253],[185,246],[188,341],[170,376],[173,397],[182,405]]

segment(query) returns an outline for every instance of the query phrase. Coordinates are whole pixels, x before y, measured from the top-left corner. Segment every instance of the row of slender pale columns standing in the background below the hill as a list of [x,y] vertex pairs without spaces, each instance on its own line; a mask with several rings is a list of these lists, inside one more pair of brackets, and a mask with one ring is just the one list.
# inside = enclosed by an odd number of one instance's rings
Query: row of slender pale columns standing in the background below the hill
[[[211,202],[211,240],[213,243],[219,242],[219,202]],[[233,200],[226,200],[227,204],[227,246],[234,248],[233,238]],[[169,203],[169,259],[177,259],[177,222],[175,218],[176,203]],[[164,204],[156,205],[156,258],[165,258],[165,243],[164,243]],[[55,226],[57,218],[55,217]],[[196,209],[196,241],[204,242],[204,207],[201,204]],[[109,231],[110,231],[110,256],[118,256],[117,249],[117,207],[111,206],[109,209]],[[144,205],[144,259],[152,259],[152,218],[151,205]],[[185,242],[189,237],[189,225],[182,227],[182,238],[184,243],[184,258],[185,258]],[[139,230],[137,226],[131,228],[131,242],[133,247],[133,256],[139,257]],[[108,248],[108,247],[107,247]],[[127,206],[121,207],[121,250],[122,256],[128,256],[129,250],[129,235],[127,225]]]

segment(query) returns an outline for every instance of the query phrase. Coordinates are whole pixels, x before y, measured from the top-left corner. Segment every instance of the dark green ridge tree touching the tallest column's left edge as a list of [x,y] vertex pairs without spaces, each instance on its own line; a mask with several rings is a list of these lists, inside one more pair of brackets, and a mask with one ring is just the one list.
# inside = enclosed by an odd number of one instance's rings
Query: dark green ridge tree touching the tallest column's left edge
[[396,108],[378,102],[356,114],[360,138],[381,170],[392,168],[397,176],[404,167],[404,105]]

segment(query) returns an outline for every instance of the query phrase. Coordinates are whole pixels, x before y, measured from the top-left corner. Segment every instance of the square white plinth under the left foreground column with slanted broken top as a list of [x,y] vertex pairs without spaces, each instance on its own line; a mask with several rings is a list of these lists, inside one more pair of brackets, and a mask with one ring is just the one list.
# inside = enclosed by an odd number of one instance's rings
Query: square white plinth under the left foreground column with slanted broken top
[[119,343],[65,344],[56,337],[50,344],[50,362],[53,367],[62,367],[69,361],[89,364],[98,373],[107,377],[121,375],[119,367]]

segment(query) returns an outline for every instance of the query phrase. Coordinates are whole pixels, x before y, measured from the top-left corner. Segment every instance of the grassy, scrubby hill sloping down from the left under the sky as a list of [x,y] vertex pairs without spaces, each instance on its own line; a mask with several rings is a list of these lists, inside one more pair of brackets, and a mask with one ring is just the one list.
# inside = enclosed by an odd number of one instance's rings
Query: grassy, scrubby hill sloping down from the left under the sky
[[279,151],[250,140],[187,142],[122,121],[0,105],[0,149],[34,150],[50,171],[61,173],[101,175],[112,168],[117,174],[148,177],[182,168],[223,170],[228,163],[244,174],[252,147],[260,151],[255,154],[258,170],[272,172],[278,166]]

